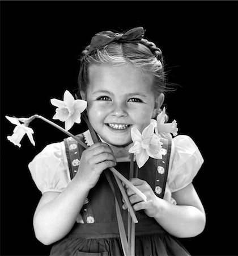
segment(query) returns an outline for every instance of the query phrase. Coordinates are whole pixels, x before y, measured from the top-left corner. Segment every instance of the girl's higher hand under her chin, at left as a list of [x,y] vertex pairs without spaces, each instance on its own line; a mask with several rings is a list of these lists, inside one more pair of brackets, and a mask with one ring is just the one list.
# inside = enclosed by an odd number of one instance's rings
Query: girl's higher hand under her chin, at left
[[83,151],[75,178],[91,189],[99,180],[101,172],[114,166],[116,158],[111,147],[97,142]]

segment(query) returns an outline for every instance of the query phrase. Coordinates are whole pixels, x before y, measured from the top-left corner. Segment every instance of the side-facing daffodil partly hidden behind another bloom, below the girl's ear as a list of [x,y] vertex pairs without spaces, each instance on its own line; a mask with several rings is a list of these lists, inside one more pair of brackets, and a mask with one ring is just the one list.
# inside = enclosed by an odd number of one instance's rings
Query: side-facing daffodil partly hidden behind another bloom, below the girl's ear
[[165,122],[165,108],[156,118],[157,120],[157,132],[158,133],[172,133],[173,136],[177,136],[177,122],[173,120],[172,123],[164,123]]

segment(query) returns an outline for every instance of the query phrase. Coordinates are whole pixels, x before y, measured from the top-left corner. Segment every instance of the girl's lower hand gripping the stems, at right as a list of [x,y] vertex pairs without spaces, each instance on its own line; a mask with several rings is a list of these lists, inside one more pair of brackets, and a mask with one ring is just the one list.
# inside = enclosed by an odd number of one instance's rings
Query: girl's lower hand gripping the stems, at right
[[[159,197],[157,197],[150,187],[150,185],[145,181],[138,178],[133,178],[130,182],[135,185],[142,193],[144,193],[147,197],[147,202],[143,201],[141,197],[135,194],[130,188],[126,189],[126,193],[128,194],[131,205],[133,205],[133,209],[137,210],[145,210],[145,213],[149,217],[155,217],[159,212]],[[127,209],[126,204],[122,205],[122,208]]]

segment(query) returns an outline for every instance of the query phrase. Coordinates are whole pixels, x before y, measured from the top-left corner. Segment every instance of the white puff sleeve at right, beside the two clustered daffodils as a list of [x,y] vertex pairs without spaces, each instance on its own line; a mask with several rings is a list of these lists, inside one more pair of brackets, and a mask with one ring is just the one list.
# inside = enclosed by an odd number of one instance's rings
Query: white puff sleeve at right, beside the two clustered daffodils
[[173,193],[193,181],[204,160],[194,141],[187,135],[173,138],[171,150],[168,187]]

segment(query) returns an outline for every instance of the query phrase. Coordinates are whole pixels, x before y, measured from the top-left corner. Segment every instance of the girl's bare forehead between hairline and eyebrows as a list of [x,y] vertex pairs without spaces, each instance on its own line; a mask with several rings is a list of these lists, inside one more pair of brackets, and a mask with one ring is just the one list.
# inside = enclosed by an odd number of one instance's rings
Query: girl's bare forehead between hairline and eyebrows
[[153,77],[130,64],[93,64],[88,69],[88,89],[117,89],[133,92],[151,92]]

